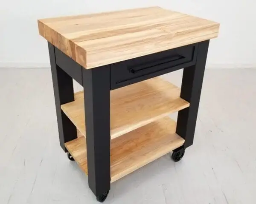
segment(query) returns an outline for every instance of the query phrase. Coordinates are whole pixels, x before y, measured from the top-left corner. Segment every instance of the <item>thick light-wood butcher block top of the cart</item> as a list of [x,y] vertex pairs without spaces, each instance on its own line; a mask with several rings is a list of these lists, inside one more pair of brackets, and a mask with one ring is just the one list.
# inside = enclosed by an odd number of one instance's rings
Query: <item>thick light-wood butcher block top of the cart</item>
[[160,7],[38,20],[39,34],[86,69],[209,40],[219,24]]

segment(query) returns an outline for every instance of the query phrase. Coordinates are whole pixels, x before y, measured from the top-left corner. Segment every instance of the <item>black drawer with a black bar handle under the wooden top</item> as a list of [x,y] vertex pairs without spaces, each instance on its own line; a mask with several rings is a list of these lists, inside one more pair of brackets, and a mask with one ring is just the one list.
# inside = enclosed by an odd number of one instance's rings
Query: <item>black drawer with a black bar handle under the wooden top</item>
[[198,45],[128,59],[111,65],[111,90],[195,65]]

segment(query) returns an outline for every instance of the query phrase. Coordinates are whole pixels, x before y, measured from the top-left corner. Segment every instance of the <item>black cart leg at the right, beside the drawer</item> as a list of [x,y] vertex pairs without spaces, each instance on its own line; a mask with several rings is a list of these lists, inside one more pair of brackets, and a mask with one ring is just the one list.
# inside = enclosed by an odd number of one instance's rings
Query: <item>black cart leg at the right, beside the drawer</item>
[[194,140],[209,40],[198,44],[196,64],[184,68],[182,77],[180,97],[190,102],[190,106],[179,111],[176,133],[185,139],[184,148],[192,145]]

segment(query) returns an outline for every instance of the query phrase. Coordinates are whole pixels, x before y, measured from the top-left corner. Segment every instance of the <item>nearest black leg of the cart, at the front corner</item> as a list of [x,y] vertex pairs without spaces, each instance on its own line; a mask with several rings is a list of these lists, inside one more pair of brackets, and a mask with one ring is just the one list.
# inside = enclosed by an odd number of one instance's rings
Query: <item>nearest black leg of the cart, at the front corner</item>
[[89,187],[96,196],[110,190],[110,66],[83,68]]

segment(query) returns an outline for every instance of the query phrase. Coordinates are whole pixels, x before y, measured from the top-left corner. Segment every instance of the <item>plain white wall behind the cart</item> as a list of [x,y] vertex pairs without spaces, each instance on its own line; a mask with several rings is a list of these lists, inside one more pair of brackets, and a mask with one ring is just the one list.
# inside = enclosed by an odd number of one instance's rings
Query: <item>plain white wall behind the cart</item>
[[256,67],[254,0],[0,0],[0,67],[49,67],[37,19],[161,6],[221,23],[209,67]]

